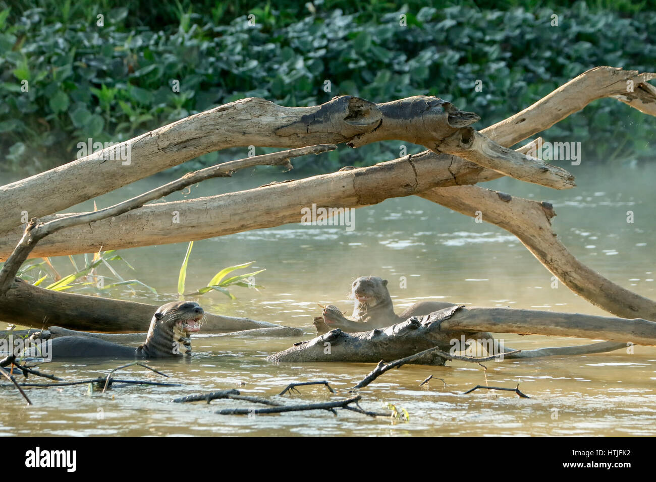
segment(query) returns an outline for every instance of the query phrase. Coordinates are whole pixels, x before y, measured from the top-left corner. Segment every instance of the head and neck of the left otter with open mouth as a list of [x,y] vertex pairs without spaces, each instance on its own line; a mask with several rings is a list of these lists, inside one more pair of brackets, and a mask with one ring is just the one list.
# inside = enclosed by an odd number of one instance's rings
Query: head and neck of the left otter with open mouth
[[150,321],[146,343],[140,347],[141,350],[152,357],[191,353],[190,335],[200,331],[204,316],[203,308],[190,301],[160,306]]

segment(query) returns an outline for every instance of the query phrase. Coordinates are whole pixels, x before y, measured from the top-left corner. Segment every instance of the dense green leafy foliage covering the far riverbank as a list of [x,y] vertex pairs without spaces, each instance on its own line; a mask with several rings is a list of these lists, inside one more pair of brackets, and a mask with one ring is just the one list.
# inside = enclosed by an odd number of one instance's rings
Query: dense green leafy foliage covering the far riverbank
[[[25,10],[6,2],[10,7],[0,12],[0,159],[6,161],[0,169],[40,172],[74,159],[76,144],[87,138],[119,142],[247,96],[306,106],[337,94],[375,102],[430,94],[476,111],[482,128],[588,68],[655,67],[656,12],[643,9],[645,2],[620,2],[617,12],[603,2],[602,8],[546,2],[550,6],[523,9],[506,0],[507,10],[345,4],[273,10],[255,2],[173,8],[44,1]],[[96,24],[98,14],[103,26]],[[400,26],[401,14],[407,26]],[[558,26],[551,26],[552,14]],[[169,21],[174,24],[161,24]],[[477,80],[482,92],[474,89]],[[606,99],[547,136],[581,141],[588,159],[646,158],[650,121]],[[367,146],[366,158],[335,151],[319,169],[398,157],[398,144]],[[216,159],[216,153],[208,156]]]

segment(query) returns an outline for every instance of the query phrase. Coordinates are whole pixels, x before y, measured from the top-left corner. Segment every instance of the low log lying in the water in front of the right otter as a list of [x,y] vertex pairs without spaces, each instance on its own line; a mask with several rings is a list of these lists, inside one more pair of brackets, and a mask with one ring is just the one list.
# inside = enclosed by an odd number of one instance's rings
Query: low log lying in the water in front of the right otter
[[[656,345],[656,323],[644,319],[624,319],[579,313],[515,310],[513,308],[464,308],[455,306],[422,317],[412,317],[387,327],[361,333],[333,330],[307,342],[299,342],[270,355],[269,361],[351,361],[377,363],[408,357],[437,347],[446,351],[461,340],[481,340],[492,346],[489,332],[575,336],[611,340],[580,347],[544,348],[508,355],[508,359],[550,355],[578,355],[625,348],[626,342]],[[480,335],[479,338],[477,336]],[[624,341],[626,340],[626,342]],[[533,351],[533,353],[531,353]],[[527,354],[523,354],[527,353]],[[443,365],[444,359],[413,361],[426,365]]]

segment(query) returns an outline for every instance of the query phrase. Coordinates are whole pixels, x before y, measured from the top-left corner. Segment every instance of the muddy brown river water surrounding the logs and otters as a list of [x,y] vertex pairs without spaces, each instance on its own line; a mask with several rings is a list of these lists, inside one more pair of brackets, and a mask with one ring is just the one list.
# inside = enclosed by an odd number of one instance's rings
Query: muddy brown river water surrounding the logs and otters
[[[558,214],[554,227],[581,261],[624,287],[656,298],[656,196],[651,182],[656,165],[622,169],[584,164],[567,167],[579,185],[569,191],[508,178],[485,187],[551,201]],[[194,186],[188,195],[259,186],[272,180],[270,172],[212,180]],[[102,196],[98,207],[171,178],[157,176]],[[183,196],[176,193],[167,200]],[[633,212],[633,223],[626,221],[627,211]],[[185,251],[186,243],[122,251],[136,271],[130,273],[118,263],[114,266],[119,272],[152,285],[159,295],[125,290],[113,291],[112,296],[153,304],[174,300]],[[216,313],[302,327],[306,330],[302,339],[312,337],[318,303],[347,310],[350,282],[369,274],[390,281],[398,311],[420,300],[445,300],[604,314],[566,287],[552,287],[552,275],[506,231],[413,196],[357,210],[352,231],[344,226],[291,224],[197,241],[187,287],[202,287],[221,268],[251,260],[256,260],[254,270],[266,268],[256,277],[265,289],[234,287],[237,300],[215,293],[199,302]],[[54,262],[63,272],[70,271],[66,258]],[[404,279],[405,288],[401,287]],[[544,336],[502,338],[508,346],[523,349],[585,342]],[[393,404],[409,412],[408,422],[346,411],[338,411],[338,416],[325,411],[224,416],[215,411],[253,405],[227,400],[210,405],[171,403],[174,397],[226,388],[274,396],[291,382],[311,380],[329,380],[336,390],[346,390],[374,366],[266,361],[267,355],[299,339],[199,334],[192,339],[195,352],[190,361],[152,361],[170,378],[138,367],[121,373],[125,378],[182,384],[178,387],[127,386],[92,396],[87,395],[87,386],[30,388],[34,405],[26,407],[14,389],[3,386],[0,435],[656,435],[656,348],[641,346],[633,353],[487,363],[490,386],[514,388],[519,383],[530,399],[510,392],[462,395],[485,384],[480,367],[462,362],[448,367],[405,366],[361,390],[363,408],[380,411]],[[117,365],[118,361],[83,359],[48,363],[41,369],[66,380],[83,380]],[[446,386],[433,380],[420,387],[430,374],[443,378]],[[300,403],[344,395],[331,395],[322,386],[301,387],[300,392],[286,398]]]

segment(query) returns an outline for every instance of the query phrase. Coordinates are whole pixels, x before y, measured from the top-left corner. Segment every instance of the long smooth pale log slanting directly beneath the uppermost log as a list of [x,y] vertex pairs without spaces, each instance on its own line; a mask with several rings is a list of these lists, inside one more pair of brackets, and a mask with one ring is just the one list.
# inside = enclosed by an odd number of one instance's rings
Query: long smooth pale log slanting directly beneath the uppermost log
[[[524,146],[520,152],[525,153],[531,145],[533,143]],[[487,174],[480,174],[482,170],[485,168],[459,157],[428,152],[251,190],[150,204],[91,225],[81,224],[52,233],[41,239],[28,257],[207,239],[300,222],[300,209],[313,204],[333,209],[358,208],[436,186],[473,184],[501,176],[496,171],[485,170],[490,173],[488,178]],[[276,203],[271,203],[271,199],[276,199]],[[254,215],[253,206],[257,207],[257,215]],[[178,224],[173,224],[173,211],[179,213]],[[71,215],[54,214],[44,216],[41,221],[50,222]],[[165,237],[161,235],[163,231],[167,231]],[[7,259],[21,235],[20,227],[0,234],[0,261]]]

